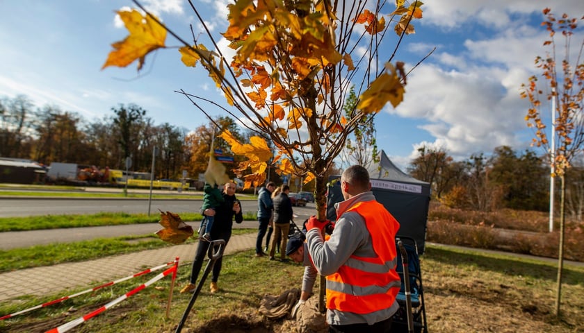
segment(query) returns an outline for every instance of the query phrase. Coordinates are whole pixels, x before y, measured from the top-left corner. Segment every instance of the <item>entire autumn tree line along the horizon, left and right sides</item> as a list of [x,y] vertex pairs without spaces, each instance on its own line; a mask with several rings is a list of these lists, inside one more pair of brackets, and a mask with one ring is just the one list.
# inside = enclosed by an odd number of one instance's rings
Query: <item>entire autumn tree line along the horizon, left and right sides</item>
[[[234,165],[243,157],[232,154],[229,145],[215,136],[229,129],[241,141],[251,130],[242,131],[229,117],[219,117],[188,132],[169,123],[154,125],[147,111],[138,105],[120,104],[112,113],[95,121],[57,106],[35,108],[26,96],[0,98],[0,157],[51,162],[71,162],[110,169],[124,169],[131,157],[132,171],[149,172],[156,146],[155,178],[180,179],[183,170],[197,179],[209,162],[213,151],[234,157]],[[569,171],[567,210],[578,221],[584,211],[584,163],[575,163]],[[229,176],[235,177],[232,167]],[[500,146],[488,157],[484,153],[455,161],[442,148],[419,148],[418,157],[407,171],[414,178],[429,182],[432,196],[451,207],[472,210],[496,210],[507,207],[518,210],[549,209],[549,164],[533,151],[517,153]],[[275,172],[270,180],[281,182]],[[307,184],[311,191],[314,185]],[[296,189],[295,189],[296,190]],[[299,190],[299,189],[298,189]]]

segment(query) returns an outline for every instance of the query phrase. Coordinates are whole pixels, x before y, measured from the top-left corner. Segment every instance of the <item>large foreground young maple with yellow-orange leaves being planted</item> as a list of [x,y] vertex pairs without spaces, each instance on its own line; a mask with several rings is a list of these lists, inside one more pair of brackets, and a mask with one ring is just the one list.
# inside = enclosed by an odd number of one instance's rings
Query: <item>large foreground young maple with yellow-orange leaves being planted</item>
[[[228,130],[220,135],[233,153],[248,158],[237,168],[238,173],[248,173],[245,187],[261,185],[272,161],[279,173],[316,180],[316,216],[325,219],[325,174],[347,136],[364,116],[380,112],[387,102],[396,107],[403,100],[405,68],[403,62],[394,62],[394,55],[403,36],[414,33],[412,21],[422,17],[423,3],[236,0],[227,6],[229,26],[222,33],[235,51],[227,58],[195,3],[188,2],[209,43],[186,42],[134,1],[143,12],[118,12],[129,36],[112,45],[104,68],[138,60],[140,69],[150,52],[169,47],[166,37],[173,35],[181,43],[177,56],[184,65],[203,67],[225,93],[233,107],[225,112],[261,133],[249,143]],[[380,48],[389,35],[397,37],[394,52],[386,55]],[[352,85],[359,99],[346,112],[343,106]],[[204,113],[203,103],[218,106],[180,92]],[[275,156],[263,137],[273,142]]]

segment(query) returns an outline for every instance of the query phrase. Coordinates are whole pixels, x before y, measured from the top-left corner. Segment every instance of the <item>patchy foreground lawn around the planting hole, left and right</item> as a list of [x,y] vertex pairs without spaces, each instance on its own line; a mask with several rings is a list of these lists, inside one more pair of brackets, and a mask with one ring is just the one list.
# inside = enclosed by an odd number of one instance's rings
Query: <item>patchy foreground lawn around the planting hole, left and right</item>
[[[504,307],[504,312],[512,318],[512,324],[519,327],[514,332],[581,332],[581,327],[584,327],[582,267],[566,267],[565,315],[559,321],[551,319],[544,311],[549,303],[553,304],[553,299],[549,298],[550,289],[553,290],[555,284],[553,264],[524,261],[507,255],[485,255],[479,251],[428,246],[422,258],[422,268],[425,274],[423,282],[425,299],[428,302],[430,332],[469,332],[469,327],[473,327],[470,330],[472,332],[487,332],[483,330],[480,324],[482,322],[494,327],[495,332],[511,332],[506,330],[510,325],[507,318],[489,315],[498,311],[499,307]],[[302,271],[299,264],[254,258],[252,250],[225,257],[219,280],[221,291],[211,295],[208,287],[210,277],[207,278],[183,332],[229,332],[236,328],[243,332],[254,329],[257,332],[289,332],[280,327],[282,320],[269,321],[258,314],[258,309],[266,293],[276,296],[288,289],[300,287]],[[154,274],[0,321],[0,332],[50,330],[122,296],[154,277]],[[189,274],[190,264],[179,267],[170,318],[165,318],[171,284],[168,276],[79,325],[75,332],[175,332],[190,300],[190,295],[178,293],[188,280]],[[83,291],[88,287],[92,286],[43,297],[27,296],[13,302],[3,302],[0,305],[0,316]],[[318,287],[315,286],[314,291],[317,290]],[[444,298],[444,304],[439,303],[441,298]],[[467,311],[455,309],[461,302],[468,307]],[[505,304],[507,302],[508,305]],[[534,306],[533,313],[526,313],[526,310],[533,309]],[[457,316],[470,316],[472,322],[468,319],[463,322]],[[458,328],[461,325],[466,328]],[[537,327],[545,327],[546,330],[530,331],[530,325],[540,325]]]

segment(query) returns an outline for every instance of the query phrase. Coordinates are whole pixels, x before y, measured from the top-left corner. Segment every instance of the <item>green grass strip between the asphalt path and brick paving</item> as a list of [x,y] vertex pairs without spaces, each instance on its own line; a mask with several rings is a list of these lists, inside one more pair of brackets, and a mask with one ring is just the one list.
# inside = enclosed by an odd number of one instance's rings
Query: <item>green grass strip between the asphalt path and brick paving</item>
[[[256,232],[250,229],[234,229],[233,234]],[[187,242],[193,242],[188,239]],[[143,236],[115,237],[56,243],[0,250],[0,273],[17,269],[63,264],[64,262],[81,262],[97,259],[107,255],[121,255],[141,250],[163,248],[172,244],[161,241],[154,234]]]

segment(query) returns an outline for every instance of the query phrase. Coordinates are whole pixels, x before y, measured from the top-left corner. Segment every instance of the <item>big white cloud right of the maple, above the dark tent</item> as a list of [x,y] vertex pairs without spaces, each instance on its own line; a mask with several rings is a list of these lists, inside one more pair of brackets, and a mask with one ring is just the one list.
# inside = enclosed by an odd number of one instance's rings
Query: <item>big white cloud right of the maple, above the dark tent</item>
[[[505,85],[524,74],[473,67],[467,72],[418,67],[409,78],[404,102],[390,113],[423,119],[419,126],[435,137],[433,144],[452,155],[490,153],[496,146],[521,146],[514,133],[524,128],[519,92]],[[414,148],[415,151],[415,148]]]

